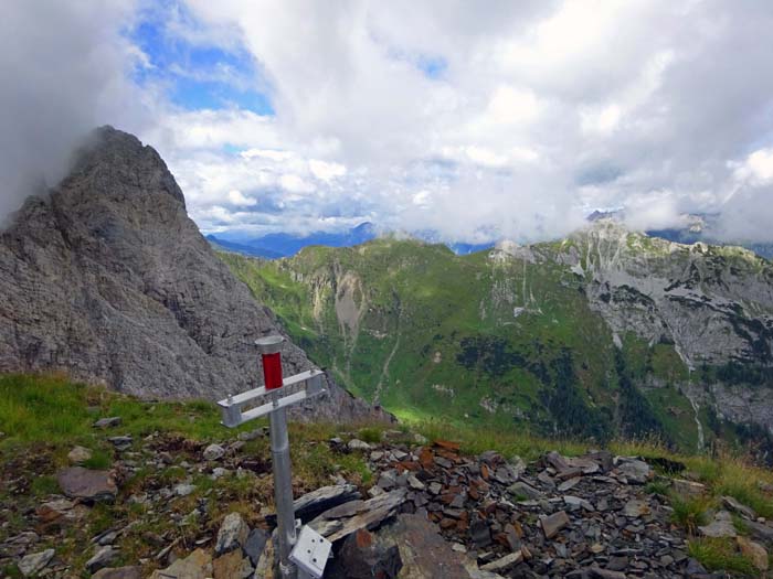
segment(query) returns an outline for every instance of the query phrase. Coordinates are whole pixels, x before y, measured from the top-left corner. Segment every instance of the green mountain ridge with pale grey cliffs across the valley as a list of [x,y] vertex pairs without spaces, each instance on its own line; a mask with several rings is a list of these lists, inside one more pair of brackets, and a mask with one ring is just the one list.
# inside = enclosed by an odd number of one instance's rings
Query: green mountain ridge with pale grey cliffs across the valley
[[384,238],[221,257],[314,360],[403,418],[689,450],[773,427],[773,268],[742,249],[600,223],[468,256]]

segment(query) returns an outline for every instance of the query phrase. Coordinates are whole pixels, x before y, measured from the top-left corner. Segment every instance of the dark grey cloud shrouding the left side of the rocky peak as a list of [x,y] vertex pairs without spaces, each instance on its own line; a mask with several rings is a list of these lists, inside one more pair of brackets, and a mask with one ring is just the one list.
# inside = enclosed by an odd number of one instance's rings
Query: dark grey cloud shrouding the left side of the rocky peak
[[98,125],[140,131],[147,93],[129,77],[147,66],[120,35],[134,3],[3,3],[0,19],[0,217],[65,174],[73,146]]

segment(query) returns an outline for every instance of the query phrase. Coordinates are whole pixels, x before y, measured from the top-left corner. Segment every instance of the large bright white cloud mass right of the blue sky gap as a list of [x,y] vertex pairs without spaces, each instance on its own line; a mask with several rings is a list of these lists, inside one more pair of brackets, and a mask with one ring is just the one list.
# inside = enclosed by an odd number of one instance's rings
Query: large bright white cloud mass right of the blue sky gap
[[262,147],[307,161],[279,186],[301,180],[285,189],[309,214],[349,203],[446,238],[546,238],[600,206],[679,224],[721,208],[739,171],[767,174],[746,159],[773,129],[761,3],[189,6],[239,29],[269,78]]

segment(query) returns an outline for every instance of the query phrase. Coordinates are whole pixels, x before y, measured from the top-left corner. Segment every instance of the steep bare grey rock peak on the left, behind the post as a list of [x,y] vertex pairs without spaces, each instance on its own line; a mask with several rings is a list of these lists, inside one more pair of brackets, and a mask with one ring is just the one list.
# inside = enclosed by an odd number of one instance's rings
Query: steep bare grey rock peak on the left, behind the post
[[[262,382],[253,343],[276,333],[273,313],[188,217],[159,154],[112,127],[0,234],[0,372],[64,371],[145,397],[215,399]],[[313,367],[289,342],[284,362],[286,373]],[[328,386],[315,417],[373,416]]]

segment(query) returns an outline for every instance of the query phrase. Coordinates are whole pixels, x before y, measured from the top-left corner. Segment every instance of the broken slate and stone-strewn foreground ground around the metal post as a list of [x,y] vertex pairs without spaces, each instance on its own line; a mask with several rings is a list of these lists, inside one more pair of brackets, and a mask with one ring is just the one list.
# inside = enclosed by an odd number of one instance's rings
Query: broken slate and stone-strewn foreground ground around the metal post
[[[119,417],[95,423],[114,447],[109,470],[83,467],[94,457],[75,447],[72,465],[56,471],[34,504],[25,502],[35,487],[29,472],[45,465],[30,455],[4,465],[0,578],[272,577],[265,428],[220,444],[169,435],[134,440],[119,429]],[[327,486],[296,485],[296,515],[333,543],[326,577],[767,572],[773,525],[731,496],[709,508],[706,524],[684,524],[675,497],[697,500],[707,489],[673,460],[591,451],[526,463],[494,451],[464,455],[455,442],[403,430],[370,443],[353,436],[308,443],[341,463],[356,458],[367,475],[340,469],[347,476],[328,473]],[[98,525],[95,515],[104,515]],[[73,537],[76,547],[66,547]],[[735,575],[710,573],[696,545],[731,549]]]

